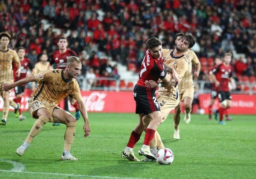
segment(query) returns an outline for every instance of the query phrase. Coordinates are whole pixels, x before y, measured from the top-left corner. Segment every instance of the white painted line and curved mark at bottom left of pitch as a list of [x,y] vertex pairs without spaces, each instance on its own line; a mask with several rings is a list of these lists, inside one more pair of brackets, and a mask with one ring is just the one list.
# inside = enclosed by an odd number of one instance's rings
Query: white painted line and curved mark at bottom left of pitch
[[57,173],[42,173],[42,172],[24,172],[25,165],[14,162],[12,160],[0,159],[0,161],[10,163],[14,166],[11,170],[1,170],[0,172],[17,172],[25,174],[47,174],[47,175],[60,175],[60,176],[73,176],[73,177],[91,177],[91,178],[103,178],[103,179],[140,179],[140,178],[120,178],[120,177],[110,177],[110,176],[93,176],[93,175],[83,175],[83,174],[57,174]]

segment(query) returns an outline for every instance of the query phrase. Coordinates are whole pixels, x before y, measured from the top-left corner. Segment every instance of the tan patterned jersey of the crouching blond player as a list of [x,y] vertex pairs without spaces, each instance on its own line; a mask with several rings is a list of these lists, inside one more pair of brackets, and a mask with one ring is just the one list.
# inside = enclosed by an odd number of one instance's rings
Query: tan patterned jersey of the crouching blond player
[[34,76],[38,83],[31,94],[34,100],[37,99],[47,106],[58,105],[69,94],[77,101],[83,100],[76,79],[65,81],[61,69],[43,71]]

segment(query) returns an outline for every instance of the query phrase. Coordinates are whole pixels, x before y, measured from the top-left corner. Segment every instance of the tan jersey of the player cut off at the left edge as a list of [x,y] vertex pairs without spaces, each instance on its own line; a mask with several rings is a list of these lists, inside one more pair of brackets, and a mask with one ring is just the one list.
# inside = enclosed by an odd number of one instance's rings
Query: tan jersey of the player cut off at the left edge
[[13,82],[12,61],[19,62],[16,51],[0,51],[0,83]]

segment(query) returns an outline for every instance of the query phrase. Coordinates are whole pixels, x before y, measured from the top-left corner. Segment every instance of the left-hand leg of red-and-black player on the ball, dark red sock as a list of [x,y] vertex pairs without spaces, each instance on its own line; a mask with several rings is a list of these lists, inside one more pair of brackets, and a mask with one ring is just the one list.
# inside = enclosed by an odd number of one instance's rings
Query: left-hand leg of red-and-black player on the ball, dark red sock
[[139,115],[139,123],[131,132],[129,141],[124,151],[122,152],[122,157],[131,161],[140,161],[139,159],[136,158],[133,152],[133,148],[135,144],[140,140],[141,134],[144,131],[144,126],[142,122],[142,117],[144,116],[144,113],[140,113],[138,115]]

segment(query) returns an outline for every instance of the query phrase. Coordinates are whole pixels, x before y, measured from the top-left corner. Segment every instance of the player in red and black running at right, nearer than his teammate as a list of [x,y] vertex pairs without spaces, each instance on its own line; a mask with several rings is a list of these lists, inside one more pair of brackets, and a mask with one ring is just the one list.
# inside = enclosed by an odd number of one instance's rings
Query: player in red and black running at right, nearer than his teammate
[[232,66],[230,62],[232,60],[232,55],[230,53],[225,53],[223,56],[223,62],[215,67],[210,74],[210,78],[216,86],[216,91],[218,92],[218,98],[220,102],[220,107],[217,110],[219,113],[219,124],[225,124],[223,121],[223,115],[225,111],[231,107],[231,96],[229,90],[229,82],[234,88],[233,77],[232,77]]

